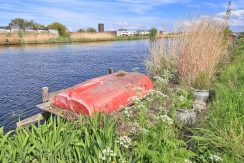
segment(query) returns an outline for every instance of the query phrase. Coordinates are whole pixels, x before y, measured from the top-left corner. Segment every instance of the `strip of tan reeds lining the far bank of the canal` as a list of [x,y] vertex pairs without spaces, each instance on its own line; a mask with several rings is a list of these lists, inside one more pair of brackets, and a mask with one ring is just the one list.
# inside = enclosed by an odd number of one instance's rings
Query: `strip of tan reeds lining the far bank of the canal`
[[[164,34],[158,35],[157,38],[179,37],[179,35]],[[51,33],[41,34],[0,34],[0,46],[23,46],[28,44],[56,44],[56,43],[82,43],[82,42],[105,42],[105,41],[127,41],[127,40],[141,40],[149,39],[147,35],[137,36],[116,36],[112,33],[70,33],[69,37],[59,37]]]

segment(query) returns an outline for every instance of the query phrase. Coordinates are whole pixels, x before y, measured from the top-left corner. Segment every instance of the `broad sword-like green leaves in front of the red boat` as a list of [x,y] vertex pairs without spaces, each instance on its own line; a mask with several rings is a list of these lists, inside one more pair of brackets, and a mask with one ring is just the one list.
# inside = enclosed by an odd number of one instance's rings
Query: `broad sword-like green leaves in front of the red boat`
[[112,149],[113,160],[130,156],[116,143],[116,123],[97,115],[79,123],[51,118],[31,129],[19,128],[16,133],[0,129],[0,162],[102,162],[102,151]]

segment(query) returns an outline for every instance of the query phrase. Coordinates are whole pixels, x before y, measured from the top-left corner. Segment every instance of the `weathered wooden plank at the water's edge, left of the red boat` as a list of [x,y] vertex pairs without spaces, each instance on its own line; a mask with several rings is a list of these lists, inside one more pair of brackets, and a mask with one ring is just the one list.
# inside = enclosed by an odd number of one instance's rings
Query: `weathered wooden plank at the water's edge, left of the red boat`
[[22,121],[19,121],[19,122],[16,123],[16,125],[17,125],[17,127],[20,127],[20,126],[24,127],[24,126],[27,126],[27,125],[30,125],[30,124],[33,124],[33,123],[37,123],[37,122],[39,122],[39,121],[41,121],[43,119],[48,118],[49,116],[50,116],[50,113],[44,111],[44,112],[38,113],[38,114],[36,114],[36,115],[34,115],[32,117],[26,118],[26,119],[24,119]]

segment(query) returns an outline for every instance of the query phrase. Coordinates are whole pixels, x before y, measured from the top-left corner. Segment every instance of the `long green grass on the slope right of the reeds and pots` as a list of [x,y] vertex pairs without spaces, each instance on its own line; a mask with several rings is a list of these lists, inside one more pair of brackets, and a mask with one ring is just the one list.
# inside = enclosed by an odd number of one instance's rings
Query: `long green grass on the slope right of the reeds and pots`
[[207,119],[195,129],[193,150],[200,162],[210,154],[224,162],[244,162],[244,42],[233,51],[232,63],[221,72],[215,83],[215,98]]

